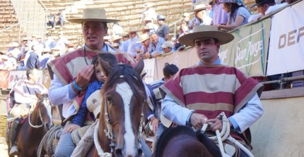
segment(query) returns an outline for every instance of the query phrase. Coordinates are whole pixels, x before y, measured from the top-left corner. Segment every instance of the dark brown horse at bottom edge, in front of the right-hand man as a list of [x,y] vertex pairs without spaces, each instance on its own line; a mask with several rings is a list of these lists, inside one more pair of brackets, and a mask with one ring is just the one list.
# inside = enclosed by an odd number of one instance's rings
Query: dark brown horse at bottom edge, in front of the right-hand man
[[221,151],[206,135],[185,126],[170,127],[160,135],[154,157],[217,157]]

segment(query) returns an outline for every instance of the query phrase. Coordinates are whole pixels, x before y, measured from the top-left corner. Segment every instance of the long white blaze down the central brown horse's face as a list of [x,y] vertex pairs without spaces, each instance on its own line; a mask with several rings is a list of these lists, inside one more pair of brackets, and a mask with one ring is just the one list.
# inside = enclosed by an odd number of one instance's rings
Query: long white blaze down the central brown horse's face
[[135,154],[135,135],[132,130],[131,125],[131,115],[130,115],[130,102],[131,96],[133,92],[131,87],[127,82],[123,82],[117,84],[116,92],[122,96],[122,100],[124,101],[124,127],[126,129],[126,133],[124,134],[124,146],[125,146],[125,156]]

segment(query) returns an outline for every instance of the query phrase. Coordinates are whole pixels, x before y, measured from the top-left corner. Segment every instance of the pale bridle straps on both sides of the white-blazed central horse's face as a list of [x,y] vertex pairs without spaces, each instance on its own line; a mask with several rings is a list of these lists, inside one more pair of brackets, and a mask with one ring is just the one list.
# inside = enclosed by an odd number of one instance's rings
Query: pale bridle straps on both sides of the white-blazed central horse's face
[[[94,144],[96,147],[96,150],[98,152],[98,156],[102,156],[102,157],[110,157],[114,154],[114,150],[115,150],[115,140],[114,140],[114,136],[113,136],[113,132],[112,132],[112,125],[110,123],[110,118],[109,118],[109,114],[107,111],[107,100],[105,101],[105,124],[107,125],[107,127],[105,128],[105,130],[103,130],[103,132],[105,132],[105,136],[107,136],[107,138],[110,139],[110,148],[111,148],[111,152],[107,153],[104,152],[103,149],[101,149],[101,146],[98,142],[98,130],[99,130],[99,121],[96,123],[95,126],[95,130],[94,130]],[[139,132],[138,132],[138,139],[140,139],[142,137],[142,129],[144,124],[144,104],[146,103],[146,99],[144,101],[144,103],[141,106],[141,121],[139,123]]]

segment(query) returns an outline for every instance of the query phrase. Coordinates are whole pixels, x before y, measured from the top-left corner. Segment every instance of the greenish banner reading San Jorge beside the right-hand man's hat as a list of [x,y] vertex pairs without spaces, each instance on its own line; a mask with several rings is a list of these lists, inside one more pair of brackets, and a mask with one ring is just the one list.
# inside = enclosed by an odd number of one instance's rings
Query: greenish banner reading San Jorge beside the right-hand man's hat
[[271,19],[266,18],[231,32],[235,39],[221,46],[219,56],[250,76],[265,76]]

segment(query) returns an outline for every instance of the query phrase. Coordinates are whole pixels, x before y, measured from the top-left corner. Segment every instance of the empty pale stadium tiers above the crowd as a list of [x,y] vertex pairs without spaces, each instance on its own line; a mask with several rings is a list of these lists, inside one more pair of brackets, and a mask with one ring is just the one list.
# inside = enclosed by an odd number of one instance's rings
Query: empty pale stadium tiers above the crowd
[[[154,4],[153,8],[155,8],[156,13],[165,15],[166,23],[168,25],[179,20],[182,17],[182,13],[192,10],[192,1],[190,0],[151,0],[148,2]],[[83,8],[105,8],[107,17],[121,20],[119,25],[124,27],[124,30],[128,30],[128,27],[137,27],[138,29],[141,27],[141,13],[144,11],[145,3],[146,1],[142,0],[42,0],[42,4],[45,5],[47,11],[56,15],[59,9],[62,9],[64,10],[66,18],[81,17]],[[255,4],[255,0],[245,0],[245,4],[246,6],[251,6],[252,4]],[[18,23],[16,13],[10,0],[0,1],[0,11],[0,31]],[[252,11],[255,11],[255,9]],[[108,27],[112,27],[112,25],[108,25]],[[47,32],[51,33],[54,38],[57,37],[59,31],[62,31],[64,32],[64,36],[69,39],[72,44],[83,44],[81,25],[75,25],[66,21],[63,29],[59,29],[59,24],[57,24],[55,30],[50,30],[49,28],[50,26],[48,26]],[[18,41],[18,39],[20,37],[22,38],[26,33],[19,36],[19,31],[19,27],[14,27],[1,33],[0,50],[6,51],[9,42]],[[170,27],[170,34],[173,34],[173,31],[174,27]]]

